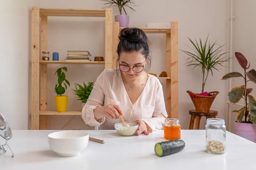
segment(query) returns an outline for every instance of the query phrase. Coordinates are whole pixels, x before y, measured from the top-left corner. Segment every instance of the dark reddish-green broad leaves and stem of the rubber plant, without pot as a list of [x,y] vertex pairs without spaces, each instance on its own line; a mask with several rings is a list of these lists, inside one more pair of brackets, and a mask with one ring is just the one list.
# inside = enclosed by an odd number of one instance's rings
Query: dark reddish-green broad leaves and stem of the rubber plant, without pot
[[244,69],[243,74],[239,72],[231,72],[223,76],[222,80],[241,77],[243,78],[244,85],[237,85],[231,88],[228,92],[228,100],[231,104],[235,105],[243,98],[244,107],[242,107],[240,110],[233,110],[232,112],[238,113],[237,122],[252,122],[256,125],[256,100],[252,95],[250,95],[252,88],[247,88],[248,81],[256,84],[256,71],[252,69],[247,72],[250,67],[250,63],[248,64],[248,61],[243,54],[235,52],[235,56],[238,63]]

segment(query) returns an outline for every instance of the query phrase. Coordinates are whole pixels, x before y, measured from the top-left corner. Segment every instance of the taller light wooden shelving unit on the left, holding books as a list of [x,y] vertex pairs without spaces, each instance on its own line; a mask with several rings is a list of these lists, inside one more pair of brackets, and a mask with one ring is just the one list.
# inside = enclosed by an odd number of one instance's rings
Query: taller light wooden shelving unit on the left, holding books
[[[48,64],[105,64],[111,69],[113,49],[113,11],[106,9],[58,9],[32,7],[31,53],[31,129],[47,129],[48,115],[81,115],[81,111],[59,113],[47,110]],[[105,17],[105,62],[42,61],[42,51],[48,51],[47,24],[49,16]],[[41,18],[41,27],[40,27]],[[40,41],[41,40],[41,41]]]

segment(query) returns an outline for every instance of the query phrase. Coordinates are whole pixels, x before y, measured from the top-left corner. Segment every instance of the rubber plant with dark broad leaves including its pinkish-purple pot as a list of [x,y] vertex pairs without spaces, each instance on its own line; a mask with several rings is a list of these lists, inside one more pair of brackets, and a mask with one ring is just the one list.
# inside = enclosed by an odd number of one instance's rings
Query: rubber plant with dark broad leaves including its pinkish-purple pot
[[[244,69],[243,74],[239,72],[231,72],[222,77],[222,80],[228,78],[241,77],[244,85],[232,87],[228,92],[228,100],[232,105],[235,105],[241,99],[244,100],[244,106],[240,110],[233,110],[238,113],[235,121],[236,134],[248,140],[256,142],[256,100],[250,95],[252,88],[247,88],[247,82],[251,81],[256,84],[256,71],[251,69],[247,59],[243,54],[235,52],[236,59],[241,67]],[[247,66],[248,65],[248,66]]]

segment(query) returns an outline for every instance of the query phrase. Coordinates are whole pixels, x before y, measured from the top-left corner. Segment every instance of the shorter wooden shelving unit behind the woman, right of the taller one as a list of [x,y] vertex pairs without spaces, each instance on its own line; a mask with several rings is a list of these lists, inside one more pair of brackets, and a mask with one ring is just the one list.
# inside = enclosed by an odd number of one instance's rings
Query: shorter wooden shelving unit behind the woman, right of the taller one
[[[113,22],[113,63],[115,63],[117,56],[115,51],[118,45],[118,34],[122,29],[123,27],[119,27],[119,22]],[[145,33],[166,34],[166,72],[168,77],[158,78],[166,79],[165,106],[168,117],[178,118],[178,22],[171,22],[170,28],[140,29]]]

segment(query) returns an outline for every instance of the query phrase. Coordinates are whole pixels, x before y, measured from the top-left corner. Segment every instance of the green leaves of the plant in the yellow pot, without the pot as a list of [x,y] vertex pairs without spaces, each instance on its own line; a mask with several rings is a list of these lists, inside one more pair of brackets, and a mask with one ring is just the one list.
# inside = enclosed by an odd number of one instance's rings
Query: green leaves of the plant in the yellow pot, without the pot
[[[56,75],[57,73],[57,76],[58,76],[58,80],[56,81],[56,84],[55,84],[55,93],[60,96],[61,94],[65,93],[65,91],[67,90],[67,85],[65,84],[65,82],[68,84],[68,86],[70,86],[69,81],[66,79],[66,75],[62,70],[68,71],[67,67],[61,67],[54,74]],[[62,87],[62,84],[64,84],[65,88]]]

